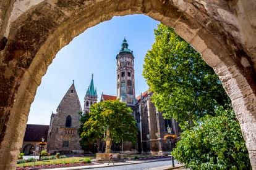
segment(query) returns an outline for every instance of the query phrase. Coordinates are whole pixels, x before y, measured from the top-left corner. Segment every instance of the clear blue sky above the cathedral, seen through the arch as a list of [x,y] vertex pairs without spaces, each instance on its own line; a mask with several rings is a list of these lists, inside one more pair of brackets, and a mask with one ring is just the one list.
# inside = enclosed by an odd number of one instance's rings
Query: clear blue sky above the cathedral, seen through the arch
[[75,80],[83,108],[83,97],[92,78],[101,93],[116,95],[116,54],[126,37],[134,51],[136,96],[148,89],[142,77],[143,59],[155,41],[154,29],[159,22],[145,15],[126,15],[85,30],[58,52],[36,91],[28,116],[30,124],[49,124],[51,112]]

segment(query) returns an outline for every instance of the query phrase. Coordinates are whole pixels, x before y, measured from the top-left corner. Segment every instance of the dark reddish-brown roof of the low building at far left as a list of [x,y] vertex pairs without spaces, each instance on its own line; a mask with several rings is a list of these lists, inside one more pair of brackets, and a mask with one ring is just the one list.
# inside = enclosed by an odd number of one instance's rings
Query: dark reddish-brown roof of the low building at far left
[[41,142],[42,137],[44,137],[45,142],[47,142],[48,130],[49,125],[27,124],[23,141]]

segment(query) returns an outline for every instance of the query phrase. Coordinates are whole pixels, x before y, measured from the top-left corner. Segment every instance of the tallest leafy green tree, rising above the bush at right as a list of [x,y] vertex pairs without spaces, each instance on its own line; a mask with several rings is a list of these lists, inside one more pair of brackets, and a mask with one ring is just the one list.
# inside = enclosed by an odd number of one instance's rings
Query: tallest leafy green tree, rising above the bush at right
[[155,43],[145,56],[143,76],[153,93],[153,103],[165,118],[179,123],[215,115],[222,105],[231,107],[218,76],[173,28],[158,25]]

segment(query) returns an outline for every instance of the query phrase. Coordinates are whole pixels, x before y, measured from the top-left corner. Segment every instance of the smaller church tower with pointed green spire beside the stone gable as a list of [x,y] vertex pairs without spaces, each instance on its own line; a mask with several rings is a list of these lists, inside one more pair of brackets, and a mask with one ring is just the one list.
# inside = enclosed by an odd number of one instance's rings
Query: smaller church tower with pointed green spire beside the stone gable
[[87,92],[86,92],[85,98],[84,98],[83,114],[89,113],[90,106],[93,105],[94,103],[96,103],[97,99],[98,99],[97,89],[96,88],[94,89],[93,74],[92,74],[91,83],[87,89]]

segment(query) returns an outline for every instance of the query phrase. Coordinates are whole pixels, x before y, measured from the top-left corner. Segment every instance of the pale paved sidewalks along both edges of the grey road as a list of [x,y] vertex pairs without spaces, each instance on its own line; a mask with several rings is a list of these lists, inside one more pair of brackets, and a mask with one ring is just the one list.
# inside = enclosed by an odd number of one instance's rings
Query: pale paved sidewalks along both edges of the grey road
[[[94,163],[92,165],[87,165],[87,166],[75,166],[75,167],[67,167],[67,168],[54,168],[54,170],[74,170],[74,169],[93,169],[93,168],[106,168],[106,167],[113,167],[113,166],[124,166],[124,165],[130,165],[130,164],[141,164],[141,163],[150,163],[150,162],[157,162],[157,161],[171,161],[171,158],[158,158],[155,160],[129,160],[126,162],[117,162],[114,163],[114,165],[111,163],[108,165],[108,163]],[[174,163],[177,164],[176,160],[174,160]],[[179,167],[181,165],[179,164]],[[158,167],[157,169],[169,169],[172,168],[171,166],[164,166],[164,167]],[[178,168],[178,164],[177,164]],[[53,170],[53,168],[49,169]],[[152,168],[152,170],[156,170]]]

